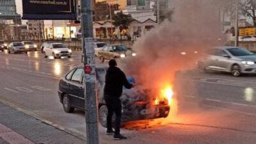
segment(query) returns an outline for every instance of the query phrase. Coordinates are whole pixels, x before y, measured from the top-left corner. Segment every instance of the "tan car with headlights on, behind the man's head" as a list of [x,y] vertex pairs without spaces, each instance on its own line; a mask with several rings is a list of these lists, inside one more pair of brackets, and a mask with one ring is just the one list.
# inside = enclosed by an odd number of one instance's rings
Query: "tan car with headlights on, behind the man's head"
[[[130,52],[131,56],[136,56],[135,52]],[[105,45],[102,50],[98,51],[101,62],[116,58],[125,58],[129,56],[129,52],[125,45]]]

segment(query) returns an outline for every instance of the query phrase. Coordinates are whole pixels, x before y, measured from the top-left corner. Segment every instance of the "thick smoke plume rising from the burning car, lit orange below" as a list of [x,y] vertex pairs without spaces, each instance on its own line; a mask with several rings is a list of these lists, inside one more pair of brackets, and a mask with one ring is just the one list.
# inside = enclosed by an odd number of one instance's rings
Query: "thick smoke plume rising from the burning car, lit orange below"
[[143,88],[173,86],[177,71],[195,68],[196,61],[205,57],[207,49],[221,44],[218,13],[223,5],[221,0],[175,0],[173,3],[172,21],[162,22],[134,43],[136,58],[119,63]]

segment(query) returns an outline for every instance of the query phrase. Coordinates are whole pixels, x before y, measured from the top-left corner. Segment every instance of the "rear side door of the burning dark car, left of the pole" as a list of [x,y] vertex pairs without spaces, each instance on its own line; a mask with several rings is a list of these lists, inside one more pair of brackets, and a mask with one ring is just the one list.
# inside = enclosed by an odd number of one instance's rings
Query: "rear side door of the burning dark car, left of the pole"
[[70,79],[70,99],[77,108],[84,108],[84,91],[82,84],[83,68],[77,68]]

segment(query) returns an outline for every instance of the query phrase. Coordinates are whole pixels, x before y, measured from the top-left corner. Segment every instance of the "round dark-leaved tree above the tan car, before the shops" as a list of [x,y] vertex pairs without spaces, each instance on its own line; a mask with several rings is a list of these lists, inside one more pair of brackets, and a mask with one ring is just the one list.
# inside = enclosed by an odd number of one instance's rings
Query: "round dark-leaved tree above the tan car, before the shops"
[[120,28],[120,29],[124,29],[124,28],[128,28],[128,26],[131,24],[132,22],[132,16],[131,14],[124,14],[122,11],[118,12],[114,15],[113,17],[113,25],[116,28]]

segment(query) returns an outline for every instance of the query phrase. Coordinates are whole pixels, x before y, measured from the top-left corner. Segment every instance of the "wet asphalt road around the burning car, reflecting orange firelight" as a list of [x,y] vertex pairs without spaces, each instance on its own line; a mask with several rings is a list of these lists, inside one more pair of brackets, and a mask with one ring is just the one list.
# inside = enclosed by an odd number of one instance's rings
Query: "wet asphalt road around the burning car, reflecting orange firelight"
[[[99,63],[99,61],[97,61]],[[47,123],[83,137],[83,111],[65,113],[58,99],[58,79],[77,65],[72,58],[51,60],[40,52],[0,52],[0,100]],[[109,143],[255,144],[256,77],[209,72],[180,72],[174,86],[177,111],[166,119],[130,122],[122,129],[129,139],[113,141],[99,125],[100,141]]]

